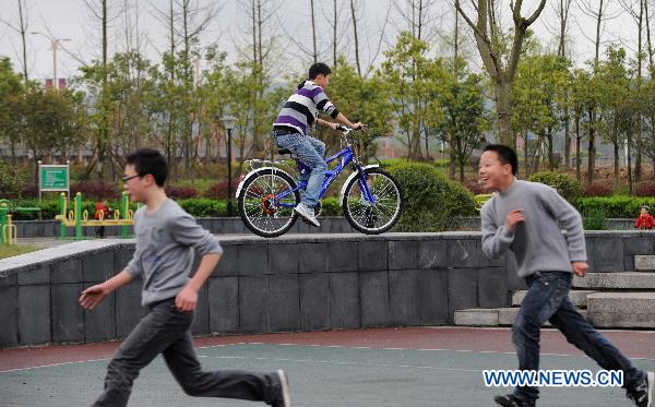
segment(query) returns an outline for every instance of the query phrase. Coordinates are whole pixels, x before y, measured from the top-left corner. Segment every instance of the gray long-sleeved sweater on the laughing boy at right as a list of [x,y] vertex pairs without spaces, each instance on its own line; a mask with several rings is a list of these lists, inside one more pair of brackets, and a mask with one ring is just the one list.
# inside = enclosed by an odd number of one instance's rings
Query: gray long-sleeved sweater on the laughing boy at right
[[[513,210],[522,210],[525,222],[509,232],[505,219]],[[586,261],[582,217],[551,187],[515,179],[483,206],[481,218],[483,251],[498,259],[511,250],[520,277],[538,271],[572,273],[571,262]]]

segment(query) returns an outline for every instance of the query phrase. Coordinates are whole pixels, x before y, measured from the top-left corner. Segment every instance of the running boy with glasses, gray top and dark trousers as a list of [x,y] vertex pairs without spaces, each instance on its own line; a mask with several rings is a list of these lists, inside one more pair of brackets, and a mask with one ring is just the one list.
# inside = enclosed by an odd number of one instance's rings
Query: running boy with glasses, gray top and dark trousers
[[[105,391],[94,406],[126,406],[141,369],[162,354],[177,382],[191,396],[260,400],[274,407],[289,407],[288,381],[282,370],[202,371],[189,327],[198,291],[216,267],[223,249],[191,215],[166,196],[167,176],[168,166],[159,152],[144,148],[128,156],[124,188],[133,201],[144,204],[134,214],[134,256],[122,272],[88,287],[80,297],[83,308],[93,309],[111,291],[140,276],[142,303],[148,310],[109,362]],[[190,277],[193,249],[202,259]]]

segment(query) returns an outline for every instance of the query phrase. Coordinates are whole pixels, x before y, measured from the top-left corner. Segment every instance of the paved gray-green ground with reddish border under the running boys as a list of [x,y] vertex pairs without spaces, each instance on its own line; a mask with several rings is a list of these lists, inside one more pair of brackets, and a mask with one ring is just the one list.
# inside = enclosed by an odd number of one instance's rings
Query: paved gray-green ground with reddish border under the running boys
[[[655,332],[607,331],[643,369],[655,369]],[[483,370],[515,369],[507,328],[412,327],[196,339],[210,369],[285,369],[295,407],[478,407],[508,388],[485,387]],[[63,407],[93,403],[117,344],[67,345],[0,351],[0,405]],[[559,332],[543,333],[543,369],[592,369],[595,363]],[[157,358],[135,382],[130,406],[254,404],[192,398]],[[631,406],[616,387],[548,387],[539,407]]]

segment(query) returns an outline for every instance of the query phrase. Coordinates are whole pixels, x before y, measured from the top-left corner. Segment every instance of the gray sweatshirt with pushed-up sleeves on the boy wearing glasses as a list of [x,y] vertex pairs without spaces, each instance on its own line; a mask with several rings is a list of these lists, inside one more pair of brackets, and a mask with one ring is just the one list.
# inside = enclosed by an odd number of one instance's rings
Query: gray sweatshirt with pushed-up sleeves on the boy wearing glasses
[[166,200],[152,214],[141,207],[134,214],[136,250],[127,266],[132,276],[143,278],[141,303],[166,300],[189,282],[193,249],[200,255],[223,253],[218,240],[200,227],[175,201]]

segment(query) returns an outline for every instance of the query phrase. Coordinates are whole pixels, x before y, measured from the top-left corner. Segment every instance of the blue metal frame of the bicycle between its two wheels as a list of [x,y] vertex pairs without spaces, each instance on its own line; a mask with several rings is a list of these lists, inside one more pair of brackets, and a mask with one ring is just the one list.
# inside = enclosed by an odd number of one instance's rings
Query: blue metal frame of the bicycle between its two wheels
[[[330,189],[330,185],[332,185],[332,183],[334,182],[334,180],[336,178],[338,178],[338,176],[344,170],[344,168],[348,164],[354,163],[355,169],[359,173],[364,175],[364,180],[362,180],[362,178],[360,178],[358,180],[358,182],[359,182],[359,190],[364,192],[364,197],[365,197],[365,200],[367,202],[369,202],[371,205],[374,204],[376,203],[376,197],[373,196],[373,194],[369,190],[368,183],[366,182],[366,172],[362,170],[361,166],[355,159],[355,154],[353,153],[353,148],[350,148],[350,145],[346,145],[346,147],[344,149],[342,149],[341,152],[336,153],[332,157],[326,158],[325,163],[330,164],[330,163],[332,163],[332,161],[334,161],[334,160],[336,160],[338,158],[341,158],[341,160],[336,164],[336,167],[334,167],[334,169],[327,169],[325,171],[325,179],[323,180],[323,184],[321,185],[321,192],[319,193],[319,200],[323,197],[323,195],[325,194],[325,192],[327,191],[327,189]],[[309,168],[308,165],[306,165],[305,163],[302,163],[300,160],[300,158],[294,157],[294,159],[296,160],[296,165],[298,166],[298,172],[303,173],[305,171],[310,171],[311,170],[311,168]],[[296,188],[294,188],[293,190],[284,191],[279,195],[276,195],[275,196],[275,201],[277,201],[277,204],[279,206],[282,206],[282,207],[294,207],[295,204],[282,203],[282,202],[279,202],[279,200],[284,199],[285,196],[288,196],[291,193],[295,193],[298,190],[306,189],[307,188],[307,183],[308,182],[305,181],[305,180],[299,180],[298,181],[298,185]]]

